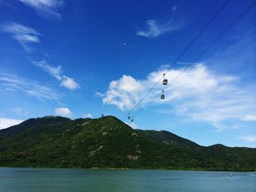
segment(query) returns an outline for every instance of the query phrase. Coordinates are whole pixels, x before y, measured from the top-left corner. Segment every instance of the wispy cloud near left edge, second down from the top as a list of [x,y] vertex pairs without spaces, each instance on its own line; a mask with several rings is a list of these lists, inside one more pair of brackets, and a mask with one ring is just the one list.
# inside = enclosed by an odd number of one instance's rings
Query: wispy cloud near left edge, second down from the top
[[0,26],[0,30],[12,34],[12,37],[16,39],[26,51],[33,50],[30,47],[30,43],[40,42],[40,34],[34,30],[34,28],[30,28],[28,26],[22,26],[18,23],[9,23],[7,25]]

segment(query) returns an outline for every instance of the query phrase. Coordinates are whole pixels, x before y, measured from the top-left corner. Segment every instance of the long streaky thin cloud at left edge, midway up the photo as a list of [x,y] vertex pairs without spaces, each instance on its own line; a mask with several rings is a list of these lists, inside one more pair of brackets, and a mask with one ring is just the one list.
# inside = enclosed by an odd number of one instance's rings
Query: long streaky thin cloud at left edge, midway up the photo
[[24,80],[14,74],[0,74],[0,88],[2,93],[25,93],[28,96],[45,100],[59,100],[59,96],[54,91],[39,82],[32,80]]

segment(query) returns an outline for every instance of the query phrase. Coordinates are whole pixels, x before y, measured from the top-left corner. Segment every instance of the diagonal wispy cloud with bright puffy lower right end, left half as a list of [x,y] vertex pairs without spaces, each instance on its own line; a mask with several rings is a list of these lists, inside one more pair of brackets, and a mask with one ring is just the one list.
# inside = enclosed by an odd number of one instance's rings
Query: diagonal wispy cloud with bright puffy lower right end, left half
[[75,90],[80,87],[78,82],[76,82],[72,77],[67,77],[64,74],[61,74],[61,66],[51,66],[47,64],[45,60],[42,61],[32,61],[33,64],[39,66],[43,71],[48,72],[61,82],[61,86],[68,88],[70,90]]

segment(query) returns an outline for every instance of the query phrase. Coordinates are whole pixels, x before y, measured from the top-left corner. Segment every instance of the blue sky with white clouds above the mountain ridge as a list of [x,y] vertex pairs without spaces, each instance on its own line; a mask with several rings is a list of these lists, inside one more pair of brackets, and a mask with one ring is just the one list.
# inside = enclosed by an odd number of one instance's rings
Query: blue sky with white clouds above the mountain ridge
[[224,3],[0,0],[0,128],[105,114],[256,147],[256,6],[212,43],[253,1],[227,1],[188,47]]

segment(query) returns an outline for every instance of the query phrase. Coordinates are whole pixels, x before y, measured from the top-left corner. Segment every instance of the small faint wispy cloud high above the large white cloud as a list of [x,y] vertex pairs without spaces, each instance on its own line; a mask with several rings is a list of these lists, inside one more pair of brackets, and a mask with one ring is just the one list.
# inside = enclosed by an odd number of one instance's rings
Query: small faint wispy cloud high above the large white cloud
[[146,25],[148,26],[148,30],[146,31],[138,31],[137,35],[148,37],[148,38],[155,38],[160,34],[165,34],[167,32],[177,31],[181,29],[183,23],[174,22],[174,20],[169,20],[167,23],[159,23],[157,20],[147,20]]

